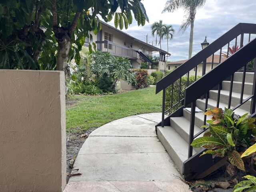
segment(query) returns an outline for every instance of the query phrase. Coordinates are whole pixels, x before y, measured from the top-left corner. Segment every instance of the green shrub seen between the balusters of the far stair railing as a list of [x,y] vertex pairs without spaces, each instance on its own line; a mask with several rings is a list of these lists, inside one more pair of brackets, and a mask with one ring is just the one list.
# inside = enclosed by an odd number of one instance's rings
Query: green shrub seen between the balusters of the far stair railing
[[[196,79],[200,78],[197,76]],[[169,109],[171,106],[174,106],[176,103],[178,103],[182,98],[184,98],[185,88],[192,84],[195,81],[195,76],[190,76],[188,80],[187,85],[187,77],[182,77],[181,82],[180,79],[178,79],[176,82],[173,83],[173,94],[172,94],[172,85],[168,86],[166,88],[166,94],[165,94],[165,110]],[[166,114],[171,114],[172,112],[176,111],[178,108],[180,108],[184,102],[180,102],[177,104],[174,108],[166,112]]]

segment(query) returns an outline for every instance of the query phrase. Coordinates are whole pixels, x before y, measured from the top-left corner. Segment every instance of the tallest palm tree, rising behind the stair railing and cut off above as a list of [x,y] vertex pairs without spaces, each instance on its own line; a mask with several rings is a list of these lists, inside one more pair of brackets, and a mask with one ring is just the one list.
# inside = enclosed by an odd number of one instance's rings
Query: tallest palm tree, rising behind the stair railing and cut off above
[[189,36],[189,49],[188,49],[188,59],[192,56],[193,50],[193,32],[194,32],[194,20],[196,16],[196,9],[204,6],[206,0],[167,0],[165,3],[165,8],[162,13],[174,12],[179,8],[185,10],[186,20],[180,26],[180,32],[184,33],[185,30],[190,26],[190,36]]

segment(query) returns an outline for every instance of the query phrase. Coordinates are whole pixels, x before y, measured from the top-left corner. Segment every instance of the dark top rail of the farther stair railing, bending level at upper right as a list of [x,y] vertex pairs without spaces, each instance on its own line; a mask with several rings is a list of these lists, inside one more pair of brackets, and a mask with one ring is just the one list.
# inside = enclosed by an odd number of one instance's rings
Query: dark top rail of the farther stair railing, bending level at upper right
[[248,24],[248,23],[239,23],[222,35],[220,38],[212,42],[206,48],[198,52],[195,56],[190,58],[188,61],[184,62],[181,66],[179,66],[176,70],[162,78],[160,81],[156,83],[156,94],[161,90],[167,88],[170,84],[174,83],[181,76],[188,73],[190,70],[195,68],[198,64],[202,63],[206,60],[212,53],[218,51],[221,47],[228,44],[234,38],[243,33],[255,33],[256,24]]

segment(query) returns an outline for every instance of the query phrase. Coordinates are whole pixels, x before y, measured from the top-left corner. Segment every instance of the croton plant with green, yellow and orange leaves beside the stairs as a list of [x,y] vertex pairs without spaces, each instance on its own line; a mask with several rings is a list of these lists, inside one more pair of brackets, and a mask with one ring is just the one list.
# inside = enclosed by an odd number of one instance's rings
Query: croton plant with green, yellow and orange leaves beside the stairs
[[[230,175],[236,174],[235,166],[239,170],[250,172],[256,176],[255,118],[251,118],[248,113],[243,116],[234,115],[234,112],[227,108],[224,111],[221,108],[207,110],[204,114],[211,115],[212,120],[207,121],[209,126],[203,127],[208,127],[209,132],[204,133],[203,137],[195,139],[191,146],[208,149],[202,155],[212,154],[213,157],[227,157],[230,162],[228,166]],[[249,150],[246,151],[248,148]],[[243,152],[248,155],[245,154],[241,157]]]

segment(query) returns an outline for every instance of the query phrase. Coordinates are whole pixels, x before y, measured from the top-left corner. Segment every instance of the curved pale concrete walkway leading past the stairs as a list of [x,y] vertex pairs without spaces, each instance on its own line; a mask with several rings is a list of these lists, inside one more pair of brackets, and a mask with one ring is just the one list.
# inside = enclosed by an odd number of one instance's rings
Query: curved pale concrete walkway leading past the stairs
[[[159,142],[161,114],[115,120],[94,130],[80,149],[64,192],[187,192]],[[175,176],[174,176],[175,175]],[[181,176],[180,176],[181,177]]]

